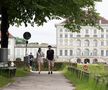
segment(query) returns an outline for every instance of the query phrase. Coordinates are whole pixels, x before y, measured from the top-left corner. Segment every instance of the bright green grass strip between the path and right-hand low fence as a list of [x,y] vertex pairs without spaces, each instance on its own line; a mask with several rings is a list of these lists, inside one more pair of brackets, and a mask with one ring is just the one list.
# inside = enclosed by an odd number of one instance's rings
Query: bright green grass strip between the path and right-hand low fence
[[64,76],[70,80],[76,90],[107,90],[104,83],[96,83],[96,81],[91,77],[89,80],[86,78],[79,79],[75,73],[68,71],[67,68],[63,71]]

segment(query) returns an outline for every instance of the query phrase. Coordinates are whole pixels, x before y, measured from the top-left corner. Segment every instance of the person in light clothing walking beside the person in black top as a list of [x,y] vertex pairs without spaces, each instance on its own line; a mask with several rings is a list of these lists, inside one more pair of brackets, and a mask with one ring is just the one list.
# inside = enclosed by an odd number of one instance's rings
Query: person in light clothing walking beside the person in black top
[[36,60],[38,63],[39,74],[40,74],[42,66],[43,66],[43,57],[44,57],[44,53],[42,52],[41,48],[39,48],[38,52],[37,52],[37,57],[36,57]]

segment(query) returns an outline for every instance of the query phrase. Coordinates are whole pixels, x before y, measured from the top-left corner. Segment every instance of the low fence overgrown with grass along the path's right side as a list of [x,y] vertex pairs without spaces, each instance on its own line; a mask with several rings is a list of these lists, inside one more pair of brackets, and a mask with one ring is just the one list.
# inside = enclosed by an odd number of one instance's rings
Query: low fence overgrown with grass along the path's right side
[[74,74],[80,80],[86,80],[86,82],[90,79],[94,80],[95,88],[99,85],[101,89],[104,87],[105,90],[108,90],[108,76],[92,75],[91,73],[79,70],[74,66],[69,66],[68,70],[71,71],[72,74]]

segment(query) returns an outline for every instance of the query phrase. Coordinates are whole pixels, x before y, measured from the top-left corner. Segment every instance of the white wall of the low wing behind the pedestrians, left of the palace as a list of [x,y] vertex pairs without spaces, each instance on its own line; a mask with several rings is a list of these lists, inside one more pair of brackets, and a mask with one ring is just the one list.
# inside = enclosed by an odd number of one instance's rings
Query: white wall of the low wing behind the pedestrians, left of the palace
[[[33,54],[34,58],[36,58],[36,53],[38,51],[38,48],[42,47],[42,52],[44,53],[44,57],[46,58],[46,52],[48,50],[47,46],[40,46],[40,45],[32,45],[32,46],[28,46],[27,47],[27,54],[29,55],[30,53]],[[56,58],[56,47],[54,46],[52,48],[54,50],[54,56]],[[24,60],[24,56],[25,56],[25,47],[24,44],[22,45],[16,45],[15,46],[15,59],[16,58],[21,58],[21,60]]]

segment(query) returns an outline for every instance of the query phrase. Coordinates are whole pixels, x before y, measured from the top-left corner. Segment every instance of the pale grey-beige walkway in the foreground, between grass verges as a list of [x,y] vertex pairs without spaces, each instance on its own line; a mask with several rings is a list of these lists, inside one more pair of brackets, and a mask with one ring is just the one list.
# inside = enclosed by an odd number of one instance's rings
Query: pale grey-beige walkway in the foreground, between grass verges
[[20,77],[16,82],[2,90],[74,90],[74,87],[60,73],[54,72],[48,75],[47,72],[32,72],[29,76]]

